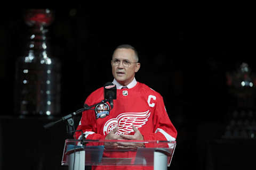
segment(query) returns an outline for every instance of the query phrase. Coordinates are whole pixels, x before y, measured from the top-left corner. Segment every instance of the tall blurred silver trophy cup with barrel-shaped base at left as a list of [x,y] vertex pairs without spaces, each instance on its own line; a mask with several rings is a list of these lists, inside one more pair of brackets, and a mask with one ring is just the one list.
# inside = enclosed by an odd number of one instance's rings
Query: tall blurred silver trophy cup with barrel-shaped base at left
[[31,29],[25,55],[16,62],[16,114],[60,114],[61,64],[50,54],[48,30],[45,29],[52,21],[53,11],[49,9],[29,9],[25,12],[25,22]]

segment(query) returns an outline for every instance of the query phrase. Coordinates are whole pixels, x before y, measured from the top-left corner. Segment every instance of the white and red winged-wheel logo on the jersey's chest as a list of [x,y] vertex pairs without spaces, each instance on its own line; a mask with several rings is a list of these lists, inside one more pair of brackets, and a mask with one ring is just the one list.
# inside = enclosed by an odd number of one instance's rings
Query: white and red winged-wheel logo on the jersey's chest
[[135,128],[141,128],[148,121],[148,117],[150,116],[149,110],[142,113],[122,113],[119,114],[116,118],[111,118],[108,120],[104,127],[103,133],[107,135],[111,131],[118,126],[117,135],[119,134],[129,134],[133,132],[132,125]]

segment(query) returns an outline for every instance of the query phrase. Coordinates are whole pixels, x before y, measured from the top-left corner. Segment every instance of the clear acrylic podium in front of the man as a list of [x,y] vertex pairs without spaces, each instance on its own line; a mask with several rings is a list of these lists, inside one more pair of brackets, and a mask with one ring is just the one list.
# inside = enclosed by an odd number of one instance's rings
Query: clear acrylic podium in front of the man
[[[105,148],[107,142],[144,143],[136,149]],[[84,170],[85,166],[154,166],[154,169],[167,169],[175,150],[175,141],[132,141],[97,140],[86,141],[85,145],[74,139],[66,139],[61,165],[69,170]],[[135,168],[135,167],[134,167]]]

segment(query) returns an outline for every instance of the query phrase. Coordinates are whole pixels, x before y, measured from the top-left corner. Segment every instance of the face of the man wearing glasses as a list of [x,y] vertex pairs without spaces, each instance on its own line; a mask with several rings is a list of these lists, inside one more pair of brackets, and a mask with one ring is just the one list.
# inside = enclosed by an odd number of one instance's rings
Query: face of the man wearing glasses
[[[118,65],[114,64],[114,61],[120,61]],[[129,62],[127,67],[123,65],[124,62]],[[127,86],[132,82],[135,72],[140,69],[140,63],[135,63],[135,53],[132,49],[117,48],[113,54],[111,66],[112,74],[116,81],[122,86]]]

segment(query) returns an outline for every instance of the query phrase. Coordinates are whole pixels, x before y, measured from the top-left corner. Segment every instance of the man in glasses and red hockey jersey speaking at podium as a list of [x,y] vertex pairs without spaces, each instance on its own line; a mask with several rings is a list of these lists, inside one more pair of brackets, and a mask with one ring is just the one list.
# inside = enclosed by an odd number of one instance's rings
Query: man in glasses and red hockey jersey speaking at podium
[[[118,46],[113,53],[111,66],[114,77],[113,84],[117,88],[113,109],[108,113],[99,111],[105,107],[109,108],[109,104],[106,103],[95,106],[95,111],[85,111],[77,130],[82,130],[85,138],[90,140],[174,141],[177,137],[177,131],[166,113],[162,96],[135,80],[135,73],[140,69],[137,50],[130,45]],[[104,89],[102,87],[92,92],[85,104],[92,106],[103,99]],[[125,122],[127,119],[129,121]],[[76,132],[76,138],[79,137],[81,137],[81,132]],[[147,145],[147,143],[145,145],[141,143],[114,143],[105,147],[137,148],[147,147]],[[105,167],[99,166],[97,168],[103,169]],[[115,168],[124,169],[123,166]],[[136,166],[136,169],[143,168],[146,169],[143,166]]]

